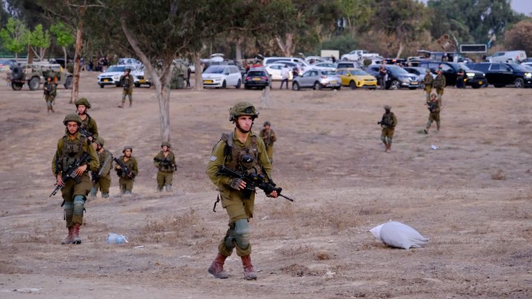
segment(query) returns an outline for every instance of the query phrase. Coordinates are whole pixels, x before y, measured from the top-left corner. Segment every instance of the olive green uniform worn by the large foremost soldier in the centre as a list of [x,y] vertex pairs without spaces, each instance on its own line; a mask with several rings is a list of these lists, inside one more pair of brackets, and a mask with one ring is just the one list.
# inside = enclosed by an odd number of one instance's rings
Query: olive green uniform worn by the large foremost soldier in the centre
[[[224,152],[227,152],[226,147],[231,149],[230,154],[227,156],[224,154]],[[227,214],[229,215],[229,230],[227,230],[226,236],[218,246],[219,253],[226,257],[233,253],[233,248],[235,247],[236,253],[240,257],[251,254],[251,244],[247,248],[240,248],[237,244],[238,242],[227,242],[227,240],[230,240],[231,238],[229,236],[234,233],[233,228],[236,221],[253,217],[255,191],[233,189],[230,186],[233,181],[231,176],[217,175],[218,168],[222,165],[237,172],[242,172],[242,166],[238,163],[242,154],[253,154],[254,156],[254,165],[249,169],[256,167],[258,174],[262,173],[269,178],[272,177],[272,164],[269,163],[269,157],[266,153],[263,139],[258,138],[251,131],[245,144],[236,138],[234,132],[223,134],[222,139],[220,139],[213,149],[206,169],[209,179],[211,179],[220,191],[222,208],[227,210]]]

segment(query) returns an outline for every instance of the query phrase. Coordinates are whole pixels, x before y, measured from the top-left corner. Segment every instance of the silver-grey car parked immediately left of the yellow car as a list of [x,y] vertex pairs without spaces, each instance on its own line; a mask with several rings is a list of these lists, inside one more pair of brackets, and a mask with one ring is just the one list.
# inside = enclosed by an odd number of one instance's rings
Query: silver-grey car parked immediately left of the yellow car
[[303,88],[316,90],[332,88],[339,90],[342,87],[342,78],[334,71],[310,70],[292,80],[292,90],[299,91]]

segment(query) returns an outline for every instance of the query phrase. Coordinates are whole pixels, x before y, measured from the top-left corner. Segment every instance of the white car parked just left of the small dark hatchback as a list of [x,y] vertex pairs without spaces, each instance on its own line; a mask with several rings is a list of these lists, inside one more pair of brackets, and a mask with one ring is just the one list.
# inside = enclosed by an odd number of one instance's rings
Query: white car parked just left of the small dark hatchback
[[203,87],[226,88],[242,86],[242,74],[237,66],[211,65],[203,73]]

